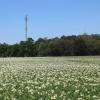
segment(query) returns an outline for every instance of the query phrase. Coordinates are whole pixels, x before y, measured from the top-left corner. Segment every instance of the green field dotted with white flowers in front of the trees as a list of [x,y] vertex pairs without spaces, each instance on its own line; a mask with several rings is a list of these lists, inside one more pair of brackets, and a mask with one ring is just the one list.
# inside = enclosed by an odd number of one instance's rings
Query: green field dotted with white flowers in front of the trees
[[0,58],[0,100],[100,100],[100,57]]

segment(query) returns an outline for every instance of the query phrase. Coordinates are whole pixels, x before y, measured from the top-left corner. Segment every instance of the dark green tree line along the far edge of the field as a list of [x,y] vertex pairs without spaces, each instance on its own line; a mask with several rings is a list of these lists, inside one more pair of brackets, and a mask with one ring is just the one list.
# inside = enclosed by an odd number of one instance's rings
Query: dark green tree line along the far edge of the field
[[13,45],[0,44],[0,57],[87,56],[100,55],[100,35],[83,34],[52,39],[39,38]]

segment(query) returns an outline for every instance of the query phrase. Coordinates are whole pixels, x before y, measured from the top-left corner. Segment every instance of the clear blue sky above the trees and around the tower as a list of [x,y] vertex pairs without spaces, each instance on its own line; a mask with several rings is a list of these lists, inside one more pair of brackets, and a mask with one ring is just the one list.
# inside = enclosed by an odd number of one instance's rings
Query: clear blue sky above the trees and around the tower
[[0,0],[0,43],[100,33],[100,0]]

